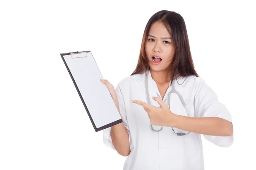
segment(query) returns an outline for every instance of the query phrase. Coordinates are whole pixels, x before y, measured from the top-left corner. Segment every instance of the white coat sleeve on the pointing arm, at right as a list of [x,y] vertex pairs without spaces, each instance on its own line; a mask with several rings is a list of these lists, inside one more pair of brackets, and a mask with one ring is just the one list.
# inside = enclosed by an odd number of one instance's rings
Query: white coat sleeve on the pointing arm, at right
[[[195,80],[194,109],[196,117],[219,117],[232,122],[231,114],[226,106],[218,101],[217,94],[201,77]],[[233,144],[234,136],[203,135],[205,139],[220,147],[229,147]]]

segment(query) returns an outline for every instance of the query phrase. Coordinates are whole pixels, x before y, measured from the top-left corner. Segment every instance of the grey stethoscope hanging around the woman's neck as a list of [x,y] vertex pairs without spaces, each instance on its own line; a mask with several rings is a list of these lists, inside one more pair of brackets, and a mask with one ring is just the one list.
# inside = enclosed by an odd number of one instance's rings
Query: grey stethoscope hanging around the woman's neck
[[[150,99],[149,99],[149,94],[148,94],[148,74],[147,74],[147,70],[145,71],[145,73],[146,73],[146,74],[145,74],[146,94],[147,94],[148,104],[151,105],[151,102],[150,102]],[[173,81],[173,82],[174,82],[174,81]],[[185,102],[184,102],[182,96],[180,95],[180,93],[175,90],[175,86],[174,86],[174,83],[173,83],[173,82],[172,82],[172,90],[171,90],[171,91],[169,92],[169,94],[168,94],[168,100],[167,100],[167,101],[168,101],[168,107],[169,107],[169,109],[170,109],[170,103],[171,103],[171,102],[170,102],[170,96],[171,96],[172,93],[175,93],[175,94],[177,94],[177,95],[179,96],[180,101],[181,101],[183,107],[186,109],[186,113],[187,113],[187,115],[188,115],[188,117],[189,117],[189,112],[188,112],[188,110],[187,110],[187,108],[186,108],[186,104],[185,104]],[[156,131],[156,132],[162,130],[162,128],[163,128],[162,126],[152,125],[152,124],[151,124],[151,127],[152,127],[152,130],[154,130],[154,131]],[[177,136],[184,136],[184,135],[187,135],[187,134],[190,133],[190,132],[188,132],[188,133],[182,133],[182,132],[176,133],[176,132],[174,131],[173,127],[172,127],[172,130],[173,130],[173,132],[174,132]]]

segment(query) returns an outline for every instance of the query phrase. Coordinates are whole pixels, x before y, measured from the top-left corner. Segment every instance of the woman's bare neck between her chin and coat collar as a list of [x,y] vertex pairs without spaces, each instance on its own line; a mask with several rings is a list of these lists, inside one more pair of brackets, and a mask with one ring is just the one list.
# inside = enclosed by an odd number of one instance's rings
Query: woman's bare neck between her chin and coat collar
[[171,81],[171,73],[168,73],[168,70],[163,70],[163,71],[154,71],[150,68],[150,74],[152,79],[158,84],[158,85],[165,85],[169,84]]

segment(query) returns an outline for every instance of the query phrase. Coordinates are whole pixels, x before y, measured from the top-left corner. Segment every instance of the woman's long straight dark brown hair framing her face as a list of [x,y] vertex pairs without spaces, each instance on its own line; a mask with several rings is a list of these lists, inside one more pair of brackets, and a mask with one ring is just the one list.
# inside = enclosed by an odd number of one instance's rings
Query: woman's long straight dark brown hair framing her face
[[169,72],[171,71],[172,73],[172,81],[175,77],[177,79],[179,76],[186,77],[195,75],[199,77],[195,71],[192,60],[185,21],[180,14],[167,10],[158,11],[148,20],[143,34],[138,64],[131,76],[144,73],[146,69],[149,68],[145,53],[145,42],[148,37],[149,28],[157,21],[162,22],[166,26],[169,34],[171,34],[173,38],[175,52],[169,69]]

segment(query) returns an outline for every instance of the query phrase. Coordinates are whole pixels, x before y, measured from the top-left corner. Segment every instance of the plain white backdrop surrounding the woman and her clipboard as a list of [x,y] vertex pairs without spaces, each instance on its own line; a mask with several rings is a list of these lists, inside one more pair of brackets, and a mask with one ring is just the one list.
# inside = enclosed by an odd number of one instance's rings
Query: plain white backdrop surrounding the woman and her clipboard
[[116,87],[163,9],[183,16],[195,69],[232,114],[232,146],[202,139],[205,169],[254,169],[253,1],[17,0],[0,3],[0,170],[121,170],[125,157],[94,131],[60,53],[91,51]]

